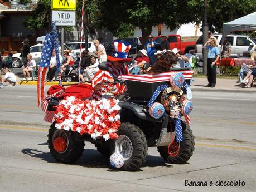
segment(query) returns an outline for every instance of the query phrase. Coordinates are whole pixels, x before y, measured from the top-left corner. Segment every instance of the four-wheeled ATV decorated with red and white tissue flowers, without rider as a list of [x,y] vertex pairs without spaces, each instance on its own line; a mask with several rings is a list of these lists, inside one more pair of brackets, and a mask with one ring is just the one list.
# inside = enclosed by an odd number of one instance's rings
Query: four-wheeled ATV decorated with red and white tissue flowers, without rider
[[52,156],[61,163],[74,163],[83,155],[85,141],[90,141],[110,156],[113,168],[125,171],[139,170],[151,146],[168,163],[186,163],[195,145],[189,127],[192,102],[185,97],[191,78],[192,71],[186,68],[122,75],[118,82],[126,85],[127,93],[118,97],[111,93],[100,101],[49,97],[48,110],[54,111],[55,119],[48,135]]

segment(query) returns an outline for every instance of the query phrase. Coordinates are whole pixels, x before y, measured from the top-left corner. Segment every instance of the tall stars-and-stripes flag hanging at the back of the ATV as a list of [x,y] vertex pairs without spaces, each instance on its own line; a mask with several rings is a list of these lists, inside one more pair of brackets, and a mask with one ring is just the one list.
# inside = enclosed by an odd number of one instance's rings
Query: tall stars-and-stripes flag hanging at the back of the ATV
[[45,77],[46,72],[49,68],[52,50],[54,49],[54,44],[52,40],[52,36],[50,34],[46,34],[44,46],[42,48],[42,56],[39,63],[38,69],[38,81],[37,81],[37,104],[41,106],[41,101],[44,99],[45,95]]

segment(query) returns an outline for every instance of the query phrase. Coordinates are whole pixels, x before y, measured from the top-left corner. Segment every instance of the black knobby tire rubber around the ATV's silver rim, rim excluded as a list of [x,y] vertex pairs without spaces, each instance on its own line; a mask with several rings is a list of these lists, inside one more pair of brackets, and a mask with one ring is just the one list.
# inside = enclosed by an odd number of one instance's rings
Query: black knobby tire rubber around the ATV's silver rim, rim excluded
[[[146,161],[148,150],[147,140],[142,130],[139,129],[139,127],[137,127],[136,125],[130,123],[123,123],[119,127],[117,134],[119,135],[119,137],[122,137],[122,135],[123,137],[128,137],[129,141],[131,141],[132,144],[132,153],[130,154],[131,156],[129,156],[128,159],[125,159],[122,170],[139,170],[142,164]],[[115,143],[115,152],[117,152],[117,141]]]

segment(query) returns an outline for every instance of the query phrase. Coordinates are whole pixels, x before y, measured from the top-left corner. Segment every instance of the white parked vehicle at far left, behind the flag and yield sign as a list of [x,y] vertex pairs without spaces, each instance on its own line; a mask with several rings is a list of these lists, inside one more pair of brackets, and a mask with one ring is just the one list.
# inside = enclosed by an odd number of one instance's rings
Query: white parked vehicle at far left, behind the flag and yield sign
[[[30,53],[33,57],[33,59],[36,62],[39,62],[41,60],[41,54],[42,54],[42,47],[44,46],[44,44],[42,43],[38,43],[36,45],[33,45],[30,47]],[[60,49],[60,47],[59,47]],[[72,56],[75,56],[75,53],[71,51],[71,48],[69,46],[67,46],[66,44],[64,44],[64,51],[69,51],[70,53],[72,53]],[[12,56],[12,68],[20,68],[22,67],[22,62],[21,62],[21,57],[20,57],[21,53],[15,53]]]

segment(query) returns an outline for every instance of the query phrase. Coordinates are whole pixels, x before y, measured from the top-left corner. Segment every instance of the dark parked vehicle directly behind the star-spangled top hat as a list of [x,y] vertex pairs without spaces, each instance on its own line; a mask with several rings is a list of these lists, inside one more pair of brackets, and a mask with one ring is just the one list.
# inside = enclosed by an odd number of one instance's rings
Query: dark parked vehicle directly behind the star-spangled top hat
[[[136,57],[138,51],[142,50],[142,48],[143,48],[143,45],[142,45],[142,43],[141,43],[141,41],[139,40],[138,37],[125,37],[125,38],[119,38],[119,39],[114,40],[114,41],[124,41],[124,42],[128,42],[128,43],[131,44],[131,48],[128,52],[129,57]],[[107,55],[112,55],[112,52],[114,50],[114,45],[113,45],[114,41],[112,41],[111,43],[109,43],[106,46]]]

